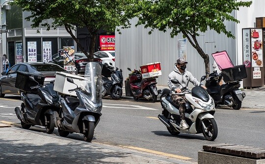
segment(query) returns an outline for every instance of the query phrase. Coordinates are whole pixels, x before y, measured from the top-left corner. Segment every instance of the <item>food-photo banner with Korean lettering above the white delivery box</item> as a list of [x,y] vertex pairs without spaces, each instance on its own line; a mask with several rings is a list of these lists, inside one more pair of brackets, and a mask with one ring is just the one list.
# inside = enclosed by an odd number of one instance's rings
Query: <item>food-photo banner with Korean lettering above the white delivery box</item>
[[59,50],[58,54],[63,56],[64,69],[69,73],[75,74],[76,71],[75,47],[74,46],[63,47],[63,49]]

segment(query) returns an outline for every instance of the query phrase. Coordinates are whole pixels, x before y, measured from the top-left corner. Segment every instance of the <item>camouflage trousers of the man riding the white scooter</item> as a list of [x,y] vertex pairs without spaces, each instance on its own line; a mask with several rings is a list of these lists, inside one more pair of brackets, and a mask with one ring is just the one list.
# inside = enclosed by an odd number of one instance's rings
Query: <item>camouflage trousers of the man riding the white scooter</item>
[[172,95],[171,100],[179,107],[181,120],[185,120],[186,97],[184,95]]

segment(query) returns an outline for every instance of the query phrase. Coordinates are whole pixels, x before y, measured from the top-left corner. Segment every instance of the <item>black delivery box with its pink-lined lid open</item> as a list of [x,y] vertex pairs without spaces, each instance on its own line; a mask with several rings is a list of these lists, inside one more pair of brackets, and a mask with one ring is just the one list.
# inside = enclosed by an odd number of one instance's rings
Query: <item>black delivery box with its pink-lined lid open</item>
[[212,57],[222,71],[224,82],[233,82],[247,78],[245,65],[234,66],[226,51],[214,53]]

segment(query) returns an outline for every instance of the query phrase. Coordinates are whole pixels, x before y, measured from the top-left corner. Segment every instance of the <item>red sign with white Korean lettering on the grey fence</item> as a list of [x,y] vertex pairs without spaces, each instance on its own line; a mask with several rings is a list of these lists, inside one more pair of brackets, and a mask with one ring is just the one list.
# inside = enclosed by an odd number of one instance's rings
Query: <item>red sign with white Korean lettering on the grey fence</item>
[[115,35],[100,35],[101,51],[115,50]]

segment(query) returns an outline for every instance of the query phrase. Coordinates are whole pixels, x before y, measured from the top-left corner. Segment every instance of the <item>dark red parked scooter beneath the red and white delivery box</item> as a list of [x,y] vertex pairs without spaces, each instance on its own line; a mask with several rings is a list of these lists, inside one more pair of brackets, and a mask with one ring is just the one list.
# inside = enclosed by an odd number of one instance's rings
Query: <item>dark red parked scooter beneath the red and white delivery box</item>
[[[132,71],[130,68],[127,69]],[[156,86],[156,78],[158,77],[143,79],[140,71],[132,71],[129,75],[129,81],[133,99],[138,101],[139,98],[144,98],[153,103],[157,102],[159,91]]]

